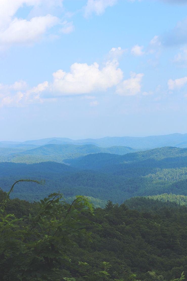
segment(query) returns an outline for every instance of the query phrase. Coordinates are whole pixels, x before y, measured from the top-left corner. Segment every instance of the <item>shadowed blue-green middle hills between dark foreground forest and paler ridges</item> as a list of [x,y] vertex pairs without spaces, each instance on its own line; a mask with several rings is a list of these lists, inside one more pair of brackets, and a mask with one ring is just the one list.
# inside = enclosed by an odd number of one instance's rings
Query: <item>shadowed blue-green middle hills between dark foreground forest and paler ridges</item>
[[68,165],[0,163],[0,187],[8,191],[20,178],[45,180],[40,186],[20,183],[12,196],[33,201],[59,190],[65,198],[90,196],[96,206],[102,207],[107,200],[123,203],[133,196],[187,196],[187,149],[164,147],[126,155],[95,153],[66,162]]

